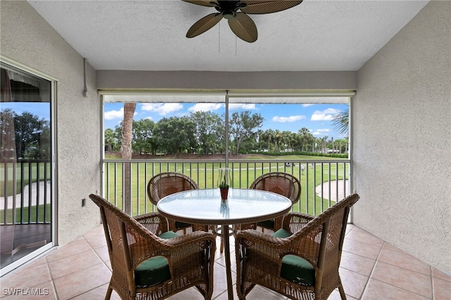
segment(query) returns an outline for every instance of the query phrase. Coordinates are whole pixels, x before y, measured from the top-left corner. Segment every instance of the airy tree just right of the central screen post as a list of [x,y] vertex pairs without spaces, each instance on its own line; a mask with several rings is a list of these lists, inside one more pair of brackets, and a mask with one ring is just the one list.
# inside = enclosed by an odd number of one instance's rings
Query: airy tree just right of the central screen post
[[240,151],[240,144],[243,140],[252,137],[260,128],[264,118],[259,113],[251,115],[250,111],[242,111],[241,113],[232,113],[229,121],[229,132],[233,137],[236,145],[236,154]]

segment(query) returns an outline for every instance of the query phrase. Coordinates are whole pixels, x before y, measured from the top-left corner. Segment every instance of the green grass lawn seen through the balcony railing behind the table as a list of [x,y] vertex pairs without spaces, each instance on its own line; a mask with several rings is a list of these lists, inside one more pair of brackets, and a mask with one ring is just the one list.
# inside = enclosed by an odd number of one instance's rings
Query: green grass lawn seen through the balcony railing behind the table
[[[337,161],[337,158],[312,156],[278,156],[268,158],[268,156],[252,156],[251,159],[252,161],[249,162],[247,160],[245,163],[229,163],[229,167],[233,168],[233,187],[247,188],[251,185],[254,178],[270,171],[291,173],[299,179],[302,185],[301,199],[293,206],[293,211],[311,215],[319,215],[319,213],[334,204],[333,201],[328,199],[321,201],[321,197],[315,193],[315,187],[329,180],[342,180],[344,177],[347,179],[348,172],[343,175],[343,168],[349,170],[349,163],[327,162],[331,160]],[[311,161],[315,159],[318,163],[316,163],[316,168],[312,168],[310,164],[302,163],[305,165],[302,172],[299,163],[285,168],[283,163],[261,162],[263,160],[268,161],[268,159],[283,159],[284,161],[302,159]],[[201,189],[215,188],[218,168],[223,166],[223,163],[211,163],[207,160],[202,163],[132,163],[132,214],[137,215],[156,211],[156,208],[147,199],[147,182],[154,174],[168,171],[184,173],[192,177]],[[104,168],[106,197],[118,207],[122,207],[122,163],[104,164]],[[109,179],[108,182],[107,179]]]

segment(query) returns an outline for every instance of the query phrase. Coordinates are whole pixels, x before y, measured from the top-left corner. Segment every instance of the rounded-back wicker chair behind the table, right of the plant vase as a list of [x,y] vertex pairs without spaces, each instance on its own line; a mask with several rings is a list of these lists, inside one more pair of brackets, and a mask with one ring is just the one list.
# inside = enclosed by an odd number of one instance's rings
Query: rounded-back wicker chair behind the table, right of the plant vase
[[[299,201],[301,196],[301,182],[299,180],[288,173],[283,172],[270,172],[264,175],[257,177],[249,189],[261,189],[268,192],[274,192],[280,194],[282,196],[287,197],[291,200],[292,204],[295,204]],[[257,226],[262,227],[263,229],[269,230],[279,230],[282,227],[283,216],[272,219],[265,220],[263,222],[257,223]],[[252,227],[249,225],[243,225],[243,227]],[[256,227],[255,225],[253,226]]]

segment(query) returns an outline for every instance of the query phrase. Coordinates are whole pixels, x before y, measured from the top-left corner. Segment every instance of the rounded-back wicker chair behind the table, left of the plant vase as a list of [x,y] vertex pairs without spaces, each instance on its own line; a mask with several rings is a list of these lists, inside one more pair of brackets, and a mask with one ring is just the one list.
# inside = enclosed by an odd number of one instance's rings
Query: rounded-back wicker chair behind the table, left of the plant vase
[[[161,198],[182,191],[190,189],[199,189],[194,180],[182,173],[165,172],[159,173],[152,177],[147,184],[147,196],[152,204],[156,205]],[[175,220],[168,220],[169,230],[177,232],[183,230],[186,233],[186,229],[191,227],[192,231],[205,230],[204,226],[192,225]]]

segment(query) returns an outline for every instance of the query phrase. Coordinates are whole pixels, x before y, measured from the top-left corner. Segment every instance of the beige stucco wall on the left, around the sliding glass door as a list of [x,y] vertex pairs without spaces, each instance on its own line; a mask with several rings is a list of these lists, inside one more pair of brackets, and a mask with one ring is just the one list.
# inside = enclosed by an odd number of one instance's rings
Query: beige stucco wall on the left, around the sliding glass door
[[[88,195],[100,189],[100,100],[95,71],[26,1],[1,1],[1,55],[58,80],[56,97],[58,244],[100,223]],[[82,207],[83,198],[87,206]]]

